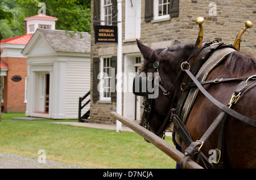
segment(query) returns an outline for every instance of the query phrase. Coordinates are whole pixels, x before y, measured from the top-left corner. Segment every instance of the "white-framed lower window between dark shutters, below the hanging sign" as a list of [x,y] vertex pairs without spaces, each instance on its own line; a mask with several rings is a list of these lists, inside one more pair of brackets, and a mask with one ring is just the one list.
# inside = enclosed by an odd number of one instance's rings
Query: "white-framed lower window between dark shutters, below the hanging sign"
[[[106,59],[106,63],[104,65],[104,59]],[[107,61],[109,61],[109,66]],[[100,101],[111,101],[111,61],[112,61],[112,55],[110,56],[104,56],[101,57],[101,69],[100,69]],[[104,72],[104,69],[106,70]],[[108,70],[107,70],[108,69]],[[105,84],[105,79],[108,80],[108,84]],[[106,96],[106,92],[109,91],[109,96]]]

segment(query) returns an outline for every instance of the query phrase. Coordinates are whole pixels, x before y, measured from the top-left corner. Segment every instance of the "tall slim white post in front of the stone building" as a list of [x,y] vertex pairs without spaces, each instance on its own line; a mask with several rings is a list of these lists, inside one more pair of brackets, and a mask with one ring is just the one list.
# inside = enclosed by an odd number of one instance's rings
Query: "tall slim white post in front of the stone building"
[[[117,0],[117,114],[122,115],[122,0]],[[117,120],[117,132],[122,132],[122,123]]]

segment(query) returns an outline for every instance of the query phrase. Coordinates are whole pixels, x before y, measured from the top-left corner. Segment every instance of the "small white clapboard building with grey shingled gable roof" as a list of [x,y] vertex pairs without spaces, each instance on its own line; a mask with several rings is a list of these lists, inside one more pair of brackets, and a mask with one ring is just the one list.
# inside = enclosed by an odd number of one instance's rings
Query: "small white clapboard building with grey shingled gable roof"
[[90,91],[90,35],[69,33],[37,29],[23,49],[28,58],[27,116],[77,119],[79,97]]

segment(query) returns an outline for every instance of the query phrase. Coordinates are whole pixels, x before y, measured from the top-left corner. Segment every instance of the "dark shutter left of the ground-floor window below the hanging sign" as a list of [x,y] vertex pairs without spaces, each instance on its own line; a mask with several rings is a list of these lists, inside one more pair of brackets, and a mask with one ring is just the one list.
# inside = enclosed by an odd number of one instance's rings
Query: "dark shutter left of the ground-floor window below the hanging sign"
[[98,101],[98,74],[100,73],[100,58],[93,58],[93,101]]

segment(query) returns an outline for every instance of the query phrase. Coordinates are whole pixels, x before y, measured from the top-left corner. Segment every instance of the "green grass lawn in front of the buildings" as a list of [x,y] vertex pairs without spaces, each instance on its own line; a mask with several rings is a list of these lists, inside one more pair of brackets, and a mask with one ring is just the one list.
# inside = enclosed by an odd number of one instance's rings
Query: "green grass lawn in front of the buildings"
[[[11,116],[2,113],[0,152],[38,158],[44,149],[47,160],[88,168],[175,168],[174,160],[135,132],[60,125],[51,119],[8,120]],[[172,144],[170,137],[166,141]]]

